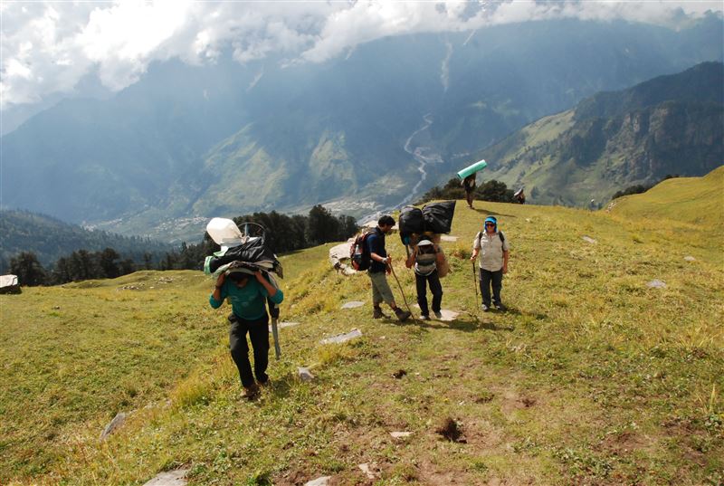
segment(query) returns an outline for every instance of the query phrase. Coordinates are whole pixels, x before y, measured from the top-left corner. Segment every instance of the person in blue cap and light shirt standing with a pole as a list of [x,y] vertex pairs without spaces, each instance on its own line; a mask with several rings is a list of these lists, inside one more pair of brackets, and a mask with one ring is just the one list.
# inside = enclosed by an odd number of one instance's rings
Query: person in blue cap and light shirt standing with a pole
[[482,310],[490,310],[491,303],[497,310],[506,310],[500,300],[500,291],[503,286],[503,274],[508,273],[510,247],[505,239],[505,234],[498,231],[498,219],[495,216],[485,218],[484,224],[484,228],[475,235],[475,240],[472,242],[471,257],[472,262],[480,257]]

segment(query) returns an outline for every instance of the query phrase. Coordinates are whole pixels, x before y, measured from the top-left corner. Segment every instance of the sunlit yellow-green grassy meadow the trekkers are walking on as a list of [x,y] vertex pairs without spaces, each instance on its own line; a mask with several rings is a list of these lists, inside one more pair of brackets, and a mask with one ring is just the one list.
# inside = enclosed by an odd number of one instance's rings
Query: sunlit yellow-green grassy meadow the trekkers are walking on
[[[284,256],[281,319],[300,324],[281,329],[251,403],[229,308],[208,306],[200,272],[2,295],[0,484],[143,484],[186,467],[196,485],[720,485],[722,176],[666,181],[681,212],[661,187],[610,212],[461,202],[460,239],[443,244],[452,322],[371,319],[367,276],[331,269],[330,245]],[[702,181],[718,205],[691,191]],[[511,245],[505,313],[481,313],[473,289],[487,214]],[[405,251],[387,242],[412,305]],[[340,310],[349,300],[365,306]],[[319,344],[353,328],[364,336]],[[101,442],[118,412],[131,413]]]

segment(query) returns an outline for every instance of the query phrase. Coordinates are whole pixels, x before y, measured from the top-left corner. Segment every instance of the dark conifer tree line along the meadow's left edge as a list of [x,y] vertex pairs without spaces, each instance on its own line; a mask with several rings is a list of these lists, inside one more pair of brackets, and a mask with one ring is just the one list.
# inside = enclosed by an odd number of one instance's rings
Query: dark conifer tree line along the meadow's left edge
[[[237,225],[261,224],[265,242],[274,253],[288,253],[322,243],[347,240],[357,233],[357,220],[342,214],[335,216],[322,205],[308,215],[271,213],[243,214],[233,218]],[[202,270],[205,257],[220,250],[208,233],[201,243],[181,243],[177,251],[143,253],[138,259],[122,256],[113,248],[100,252],[78,250],[44,268],[33,252],[21,252],[10,259],[10,273],[24,286],[58,285],[69,281],[114,279],[139,270]]]

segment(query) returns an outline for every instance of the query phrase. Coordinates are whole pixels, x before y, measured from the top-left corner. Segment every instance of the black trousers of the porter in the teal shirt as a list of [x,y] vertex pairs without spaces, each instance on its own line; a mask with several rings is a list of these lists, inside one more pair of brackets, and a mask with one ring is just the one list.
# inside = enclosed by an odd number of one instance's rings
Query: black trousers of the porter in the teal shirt
[[[229,316],[231,328],[229,329],[229,348],[232,352],[233,362],[239,369],[242,385],[248,388],[256,381],[264,383],[269,379],[266,367],[269,365],[269,316],[256,320],[242,319],[238,316]],[[254,353],[254,374],[252,364],[249,362],[249,345],[246,342],[246,333],[252,339]]]

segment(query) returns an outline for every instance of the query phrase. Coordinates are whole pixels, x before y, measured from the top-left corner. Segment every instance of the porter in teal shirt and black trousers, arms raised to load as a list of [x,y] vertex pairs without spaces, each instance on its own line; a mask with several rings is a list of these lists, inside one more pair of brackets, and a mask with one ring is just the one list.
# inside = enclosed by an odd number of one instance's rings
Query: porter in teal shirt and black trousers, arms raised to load
[[[253,275],[243,272],[222,273],[216,280],[214,292],[209,296],[209,304],[214,309],[221,307],[224,299],[232,304],[229,316],[229,348],[233,362],[239,370],[246,396],[251,400],[259,394],[259,385],[269,383],[266,368],[269,365],[269,315],[266,313],[267,298],[275,304],[281,304],[284,294],[271,285],[262,274]],[[254,370],[249,362],[249,345],[246,333],[252,340]],[[254,382],[256,376],[256,382]],[[257,384],[258,383],[258,384]]]

